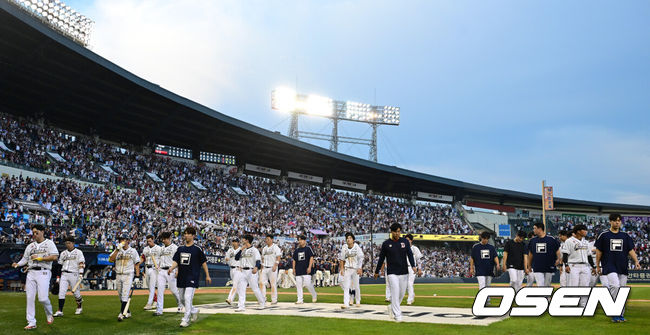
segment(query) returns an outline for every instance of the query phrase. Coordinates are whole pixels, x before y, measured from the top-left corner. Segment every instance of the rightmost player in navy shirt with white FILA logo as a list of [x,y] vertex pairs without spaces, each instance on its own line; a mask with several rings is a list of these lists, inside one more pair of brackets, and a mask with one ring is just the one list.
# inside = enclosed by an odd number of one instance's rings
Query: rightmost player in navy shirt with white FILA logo
[[[609,215],[608,231],[603,232],[596,240],[596,272],[607,276],[609,292],[616,298],[618,289],[627,284],[627,258],[634,261],[634,269],[640,270],[641,265],[634,252],[634,241],[627,233],[621,231],[621,215]],[[601,264],[602,263],[602,264]],[[602,268],[601,268],[602,266]],[[613,322],[625,322],[623,313],[620,316],[612,317]]]

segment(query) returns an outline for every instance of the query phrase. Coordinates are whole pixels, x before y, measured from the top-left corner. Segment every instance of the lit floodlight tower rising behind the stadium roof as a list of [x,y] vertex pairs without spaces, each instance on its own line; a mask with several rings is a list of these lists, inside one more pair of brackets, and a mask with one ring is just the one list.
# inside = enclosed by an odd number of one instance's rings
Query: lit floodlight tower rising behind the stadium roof
[[[271,108],[291,113],[289,137],[310,138],[330,142],[330,150],[338,151],[339,143],[362,144],[370,147],[369,158],[377,161],[377,128],[379,125],[399,125],[400,108],[393,106],[371,106],[353,101],[337,101],[314,94],[298,94],[296,91],[279,87],[271,93]],[[299,115],[312,115],[332,120],[331,135],[300,131]],[[370,139],[344,137],[338,134],[339,121],[367,123],[372,128]]]

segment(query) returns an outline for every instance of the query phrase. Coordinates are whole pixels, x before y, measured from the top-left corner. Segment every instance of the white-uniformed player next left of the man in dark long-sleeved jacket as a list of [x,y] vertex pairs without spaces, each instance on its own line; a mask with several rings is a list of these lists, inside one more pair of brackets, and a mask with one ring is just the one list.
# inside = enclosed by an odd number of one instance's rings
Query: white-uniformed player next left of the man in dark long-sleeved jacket
[[339,253],[339,267],[341,269],[341,276],[343,277],[342,309],[350,307],[350,288],[354,288],[356,306],[361,306],[359,276],[362,274],[363,250],[354,241],[354,234],[345,233],[346,244],[341,248],[341,252]]

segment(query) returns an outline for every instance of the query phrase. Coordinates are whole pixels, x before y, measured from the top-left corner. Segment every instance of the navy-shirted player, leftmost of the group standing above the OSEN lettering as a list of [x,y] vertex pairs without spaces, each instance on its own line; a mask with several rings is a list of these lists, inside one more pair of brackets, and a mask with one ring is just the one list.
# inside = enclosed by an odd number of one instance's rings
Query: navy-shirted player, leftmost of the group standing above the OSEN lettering
[[[499,266],[497,249],[493,245],[488,244],[490,233],[484,231],[480,236],[481,242],[474,244],[472,247],[472,256],[469,259],[469,276],[473,277],[476,274],[479,290],[492,284],[494,267]],[[489,298],[488,303],[490,303]]]

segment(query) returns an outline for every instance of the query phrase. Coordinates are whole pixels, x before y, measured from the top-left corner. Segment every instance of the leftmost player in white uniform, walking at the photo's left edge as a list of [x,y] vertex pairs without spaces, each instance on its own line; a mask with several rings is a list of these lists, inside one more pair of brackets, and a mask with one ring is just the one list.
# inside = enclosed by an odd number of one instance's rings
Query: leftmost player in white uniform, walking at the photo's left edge
[[59,257],[59,251],[56,249],[54,242],[46,239],[44,234],[45,227],[43,225],[34,225],[32,227],[32,239],[34,239],[34,242],[27,246],[23,258],[18,263],[12,264],[14,268],[27,264],[27,279],[25,280],[25,291],[27,292],[27,326],[25,326],[25,329],[36,328],[36,311],[34,306],[36,293],[38,293],[38,301],[45,309],[47,324],[54,322],[52,303],[50,303],[48,289],[50,288],[50,278],[52,278],[52,262],[56,261]]

